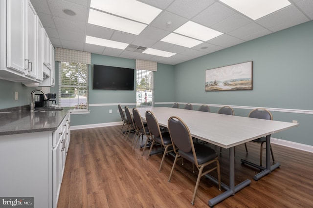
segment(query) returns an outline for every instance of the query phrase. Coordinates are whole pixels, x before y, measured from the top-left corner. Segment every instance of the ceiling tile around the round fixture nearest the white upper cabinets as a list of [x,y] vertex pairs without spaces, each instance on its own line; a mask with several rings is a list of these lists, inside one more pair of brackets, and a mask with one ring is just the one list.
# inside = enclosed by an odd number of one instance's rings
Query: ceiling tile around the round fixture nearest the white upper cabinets
[[[87,7],[81,6],[75,3],[71,3],[65,0],[48,0],[50,10],[54,11],[53,16],[72,20],[86,22]],[[63,12],[63,9],[69,9],[76,13],[75,16],[67,15]]]

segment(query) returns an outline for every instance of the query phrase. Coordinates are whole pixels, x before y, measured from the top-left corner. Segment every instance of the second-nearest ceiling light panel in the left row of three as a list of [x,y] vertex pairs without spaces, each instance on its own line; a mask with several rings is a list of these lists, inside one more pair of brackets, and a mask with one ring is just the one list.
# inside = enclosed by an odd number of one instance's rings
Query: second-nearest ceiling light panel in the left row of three
[[147,26],[147,24],[130,21],[104,12],[99,12],[94,9],[89,9],[88,23],[134,35],[139,35]]

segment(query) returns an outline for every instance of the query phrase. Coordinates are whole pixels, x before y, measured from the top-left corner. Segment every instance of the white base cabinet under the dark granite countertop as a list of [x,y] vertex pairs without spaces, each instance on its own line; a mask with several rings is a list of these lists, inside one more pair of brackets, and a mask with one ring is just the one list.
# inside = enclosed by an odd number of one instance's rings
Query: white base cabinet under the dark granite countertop
[[0,196],[57,208],[69,143],[69,113],[56,131],[0,136]]

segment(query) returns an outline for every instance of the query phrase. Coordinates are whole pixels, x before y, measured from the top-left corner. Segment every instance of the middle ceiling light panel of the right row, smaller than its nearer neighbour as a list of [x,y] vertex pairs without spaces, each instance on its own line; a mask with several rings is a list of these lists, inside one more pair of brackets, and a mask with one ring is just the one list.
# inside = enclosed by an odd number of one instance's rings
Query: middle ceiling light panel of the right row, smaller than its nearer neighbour
[[198,41],[196,39],[188,38],[186,36],[182,36],[176,33],[171,33],[168,36],[164,37],[161,41],[163,42],[169,42],[176,45],[181,45],[187,48],[192,48],[196,45],[199,45],[202,43],[202,41]]

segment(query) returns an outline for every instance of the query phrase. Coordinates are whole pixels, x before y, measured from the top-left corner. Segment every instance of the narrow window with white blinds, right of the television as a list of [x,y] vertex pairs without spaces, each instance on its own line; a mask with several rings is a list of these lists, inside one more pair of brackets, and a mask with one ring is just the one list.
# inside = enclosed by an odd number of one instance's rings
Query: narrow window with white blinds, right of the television
[[153,106],[153,72],[136,70],[136,105]]

